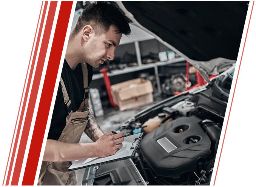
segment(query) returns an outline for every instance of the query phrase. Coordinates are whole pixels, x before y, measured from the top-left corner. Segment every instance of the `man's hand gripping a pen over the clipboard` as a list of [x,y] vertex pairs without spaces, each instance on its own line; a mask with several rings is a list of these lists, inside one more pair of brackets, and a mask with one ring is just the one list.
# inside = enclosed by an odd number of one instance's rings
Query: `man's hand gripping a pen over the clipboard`
[[105,133],[96,142],[98,157],[106,157],[114,155],[119,147],[122,146],[123,132],[113,134],[112,132]]

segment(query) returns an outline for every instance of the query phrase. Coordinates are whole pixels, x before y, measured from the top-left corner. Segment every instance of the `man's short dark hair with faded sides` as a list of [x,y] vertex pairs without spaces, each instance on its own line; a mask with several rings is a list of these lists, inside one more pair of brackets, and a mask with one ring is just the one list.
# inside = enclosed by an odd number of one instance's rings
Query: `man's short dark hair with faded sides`
[[71,33],[76,35],[85,25],[91,25],[96,34],[108,32],[109,27],[117,27],[117,33],[130,35],[131,28],[125,16],[119,11],[112,2],[100,1],[87,6],[79,15],[77,24]]

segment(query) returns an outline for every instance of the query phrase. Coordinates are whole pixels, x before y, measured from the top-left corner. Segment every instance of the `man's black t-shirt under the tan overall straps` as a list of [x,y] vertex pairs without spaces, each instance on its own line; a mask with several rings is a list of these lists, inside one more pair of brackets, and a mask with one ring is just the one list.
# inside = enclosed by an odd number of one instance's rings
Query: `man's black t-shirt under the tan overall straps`
[[[88,69],[88,86],[93,78],[93,67],[87,63]],[[60,64],[60,75],[71,100],[71,110],[76,112],[84,98],[83,89],[83,72],[81,64],[78,64],[75,70],[72,70],[64,58]],[[57,81],[57,90],[54,91],[54,102],[52,103],[52,121],[49,132],[46,134],[47,139],[58,140],[63,129],[66,126],[66,116],[68,109],[64,103],[62,87],[60,81]]]

